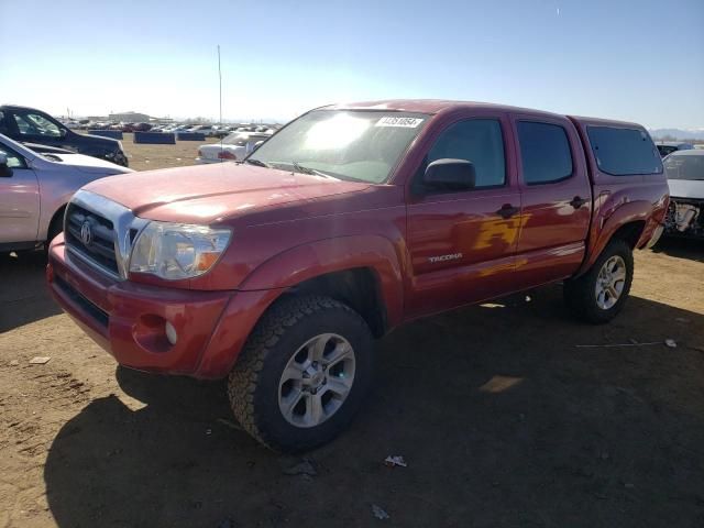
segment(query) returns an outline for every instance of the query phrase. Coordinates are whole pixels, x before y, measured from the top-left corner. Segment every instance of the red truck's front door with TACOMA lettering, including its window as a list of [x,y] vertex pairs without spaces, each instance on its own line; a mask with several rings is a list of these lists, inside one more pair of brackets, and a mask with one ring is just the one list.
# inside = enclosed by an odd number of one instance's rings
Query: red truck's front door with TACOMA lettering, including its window
[[[421,179],[437,160],[474,164],[466,190],[429,190]],[[495,297],[513,289],[520,223],[514,142],[507,114],[466,116],[439,128],[415,174],[408,201],[409,317]]]

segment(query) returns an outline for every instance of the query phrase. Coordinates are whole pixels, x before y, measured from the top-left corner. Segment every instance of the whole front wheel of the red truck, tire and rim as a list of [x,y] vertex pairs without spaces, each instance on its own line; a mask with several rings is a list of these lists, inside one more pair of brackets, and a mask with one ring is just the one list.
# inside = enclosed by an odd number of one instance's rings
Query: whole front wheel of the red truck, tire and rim
[[372,371],[372,334],[359,314],[331,298],[293,297],[256,326],[228,394],[250,435],[277,451],[304,451],[350,424]]

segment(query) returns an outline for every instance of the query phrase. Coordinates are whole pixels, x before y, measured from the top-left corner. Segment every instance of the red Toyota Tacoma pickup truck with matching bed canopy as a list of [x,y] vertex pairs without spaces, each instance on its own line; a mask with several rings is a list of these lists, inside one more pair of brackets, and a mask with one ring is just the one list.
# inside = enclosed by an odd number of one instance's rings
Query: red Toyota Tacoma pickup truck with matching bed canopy
[[547,283],[623,308],[668,208],[634,123],[452,101],[312,110],[242,163],[79,190],[51,244],[58,304],[119,363],[229,376],[242,426],[305,450],[360,408],[373,338]]

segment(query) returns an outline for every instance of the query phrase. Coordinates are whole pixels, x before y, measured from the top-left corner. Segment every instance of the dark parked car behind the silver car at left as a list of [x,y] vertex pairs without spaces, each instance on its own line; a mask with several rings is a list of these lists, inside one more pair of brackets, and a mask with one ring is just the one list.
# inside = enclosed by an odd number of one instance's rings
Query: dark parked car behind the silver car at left
[[0,107],[0,134],[21,143],[57,146],[128,166],[122,143],[109,138],[77,134],[46,112],[34,108]]

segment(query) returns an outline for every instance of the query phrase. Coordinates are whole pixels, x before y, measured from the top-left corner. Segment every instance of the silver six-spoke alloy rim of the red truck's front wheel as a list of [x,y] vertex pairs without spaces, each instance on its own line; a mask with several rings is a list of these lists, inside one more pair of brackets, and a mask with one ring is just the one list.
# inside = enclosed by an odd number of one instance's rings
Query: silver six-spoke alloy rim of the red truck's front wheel
[[308,340],[288,360],[278,383],[278,408],[296,427],[315,427],[334,415],[354,383],[355,358],[337,333]]

